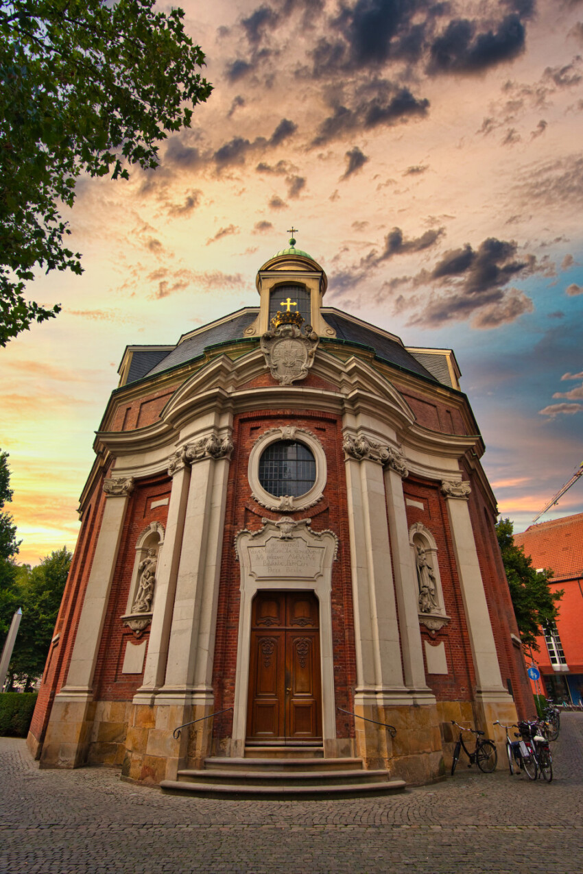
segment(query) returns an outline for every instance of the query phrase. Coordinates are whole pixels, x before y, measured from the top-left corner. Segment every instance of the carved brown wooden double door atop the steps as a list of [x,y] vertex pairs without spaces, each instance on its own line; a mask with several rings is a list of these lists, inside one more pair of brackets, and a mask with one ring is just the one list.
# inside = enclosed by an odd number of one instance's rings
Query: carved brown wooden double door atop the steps
[[253,600],[247,742],[322,739],[318,601],[312,592],[260,592]]

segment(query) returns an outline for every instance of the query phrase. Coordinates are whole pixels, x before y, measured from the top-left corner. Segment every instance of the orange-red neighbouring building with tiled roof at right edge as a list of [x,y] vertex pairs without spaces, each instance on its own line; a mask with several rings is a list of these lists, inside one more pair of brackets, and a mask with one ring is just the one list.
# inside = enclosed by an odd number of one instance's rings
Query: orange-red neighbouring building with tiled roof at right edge
[[543,691],[555,701],[583,700],[583,513],[531,525],[514,535],[537,570],[551,568],[551,590],[564,595],[559,617],[538,638],[537,663]]

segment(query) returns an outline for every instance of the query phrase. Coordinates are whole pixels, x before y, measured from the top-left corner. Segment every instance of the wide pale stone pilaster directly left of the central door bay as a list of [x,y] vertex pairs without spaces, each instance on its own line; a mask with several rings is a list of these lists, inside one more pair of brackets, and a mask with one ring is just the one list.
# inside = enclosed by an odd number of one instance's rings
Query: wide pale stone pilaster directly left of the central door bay
[[[225,513],[228,459],[233,451],[230,438],[219,440],[215,434],[200,438],[186,447],[185,457],[191,461],[191,482],[184,517],[182,551],[178,567],[174,612],[166,676],[156,697],[157,704],[212,704],[209,683],[197,694],[196,677],[207,676],[208,664],[202,670],[197,664],[198,648],[205,658],[214,628],[204,628],[210,621],[216,599],[219,577]],[[222,461],[220,461],[222,460]],[[205,584],[208,583],[208,588]],[[214,607],[216,610],[216,605]],[[205,617],[205,620],[203,620]],[[199,633],[202,636],[199,639]]]

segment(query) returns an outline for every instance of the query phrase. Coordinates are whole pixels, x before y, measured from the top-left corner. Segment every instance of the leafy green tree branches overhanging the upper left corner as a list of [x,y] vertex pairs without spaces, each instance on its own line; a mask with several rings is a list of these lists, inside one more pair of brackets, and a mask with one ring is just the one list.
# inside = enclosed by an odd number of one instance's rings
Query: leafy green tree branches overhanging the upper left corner
[[59,312],[24,299],[35,269],[81,273],[61,205],[81,173],[154,169],[212,87],[184,11],[156,0],[0,0],[0,346]]

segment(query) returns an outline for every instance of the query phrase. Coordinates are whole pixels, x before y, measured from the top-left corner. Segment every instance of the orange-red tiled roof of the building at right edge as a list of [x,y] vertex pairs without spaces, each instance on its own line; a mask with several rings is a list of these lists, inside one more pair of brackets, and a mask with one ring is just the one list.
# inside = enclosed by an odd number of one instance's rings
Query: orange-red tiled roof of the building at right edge
[[583,513],[531,525],[514,543],[524,546],[533,567],[551,567],[553,581],[583,577]]

